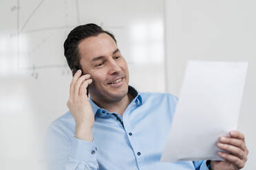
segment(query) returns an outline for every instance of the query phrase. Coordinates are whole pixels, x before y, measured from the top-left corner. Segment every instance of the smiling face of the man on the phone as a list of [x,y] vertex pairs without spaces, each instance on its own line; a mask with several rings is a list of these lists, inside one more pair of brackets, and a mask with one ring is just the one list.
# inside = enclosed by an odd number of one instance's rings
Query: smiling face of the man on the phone
[[118,101],[127,95],[129,71],[116,42],[103,33],[85,38],[78,45],[83,73],[89,73],[92,99]]

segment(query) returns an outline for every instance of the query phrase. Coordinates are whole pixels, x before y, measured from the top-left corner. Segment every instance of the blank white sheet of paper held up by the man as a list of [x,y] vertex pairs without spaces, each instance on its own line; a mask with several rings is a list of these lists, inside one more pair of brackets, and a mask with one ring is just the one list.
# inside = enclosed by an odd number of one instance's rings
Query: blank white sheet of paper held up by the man
[[220,136],[237,129],[247,62],[189,61],[162,162],[222,160]]

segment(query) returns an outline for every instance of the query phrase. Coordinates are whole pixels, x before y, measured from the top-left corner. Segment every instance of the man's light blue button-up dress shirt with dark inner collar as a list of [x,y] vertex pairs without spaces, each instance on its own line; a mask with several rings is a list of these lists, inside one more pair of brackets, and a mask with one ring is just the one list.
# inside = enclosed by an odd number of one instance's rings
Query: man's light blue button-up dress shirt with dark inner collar
[[74,137],[75,121],[70,112],[53,121],[47,132],[49,169],[208,169],[205,160],[160,162],[177,97],[167,93],[138,93],[131,86],[129,93],[134,99],[123,117],[99,108],[89,98],[95,114],[92,143]]

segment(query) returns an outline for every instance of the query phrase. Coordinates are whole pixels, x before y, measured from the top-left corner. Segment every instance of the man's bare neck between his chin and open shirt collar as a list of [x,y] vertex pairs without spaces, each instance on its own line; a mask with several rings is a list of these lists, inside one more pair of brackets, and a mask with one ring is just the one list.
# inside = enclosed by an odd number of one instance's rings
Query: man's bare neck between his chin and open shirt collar
[[122,114],[125,112],[126,108],[129,106],[133,98],[134,97],[132,97],[131,94],[127,93],[125,97],[123,97],[118,101],[111,101],[111,102],[94,101],[94,102],[100,108],[105,108],[106,110],[109,110],[109,112],[116,112],[122,116]]

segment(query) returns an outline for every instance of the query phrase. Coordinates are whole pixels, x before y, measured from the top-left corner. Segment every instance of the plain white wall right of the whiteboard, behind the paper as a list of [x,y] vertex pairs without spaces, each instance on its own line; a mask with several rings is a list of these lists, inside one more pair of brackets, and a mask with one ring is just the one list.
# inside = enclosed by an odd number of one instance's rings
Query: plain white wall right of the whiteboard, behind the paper
[[[248,61],[238,130],[256,167],[256,1],[166,0],[167,92],[179,95],[187,60]],[[228,119],[228,118],[227,118]]]

